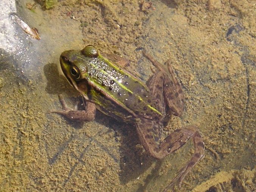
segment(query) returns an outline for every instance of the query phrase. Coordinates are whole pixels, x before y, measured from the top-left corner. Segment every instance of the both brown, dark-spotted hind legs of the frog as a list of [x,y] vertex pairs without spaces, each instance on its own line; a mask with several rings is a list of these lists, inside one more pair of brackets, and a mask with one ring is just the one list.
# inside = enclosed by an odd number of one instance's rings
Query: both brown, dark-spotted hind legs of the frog
[[[151,77],[150,81],[148,81],[148,87],[151,90],[153,97],[155,97],[159,103],[159,110],[162,114],[165,114],[165,116],[171,116],[172,114],[181,116],[184,110],[184,95],[180,84],[174,76],[170,61],[167,61],[166,63],[168,70],[164,70],[151,56],[146,53],[144,53],[144,55],[159,70]],[[161,79],[161,81],[159,81],[159,79]],[[204,157],[204,142],[197,126],[182,127],[175,130],[173,133],[170,133],[164,140],[161,140],[163,120],[164,116],[160,121],[141,118],[136,123],[136,130],[139,134],[140,142],[151,156],[157,159],[162,159],[166,155],[181,148],[190,138],[193,139],[195,149],[192,158],[164,189],[164,191],[166,191],[173,186],[175,182],[178,182],[179,187],[181,187],[181,183],[187,173],[189,173],[198,161]],[[149,127],[151,127],[151,129]]]

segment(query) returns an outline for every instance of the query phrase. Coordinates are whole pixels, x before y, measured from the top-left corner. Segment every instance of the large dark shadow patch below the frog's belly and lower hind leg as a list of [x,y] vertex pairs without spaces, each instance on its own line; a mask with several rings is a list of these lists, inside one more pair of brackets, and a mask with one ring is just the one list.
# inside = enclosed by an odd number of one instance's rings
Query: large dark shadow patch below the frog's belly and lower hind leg
[[[104,120],[110,119],[109,121]],[[97,113],[96,122],[102,123],[106,127],[114,130],[114,137],[117,142],[120,142],[120,170],[119,178],[122,184],[134,181],[140,178],[156,162],[151,173],[144,179],[144,185],[138,187],[137,191],[144,191],[148,183],[155,177],[161,167],[162,161],[149,156],[144,148],[140,145],[137,136],[136,128],[131,123],[119,122],[112,117],[108,117],[101,112]],[[108,123],[106,123],[108,122]],[[119,138],[118,138],[119,137]]]

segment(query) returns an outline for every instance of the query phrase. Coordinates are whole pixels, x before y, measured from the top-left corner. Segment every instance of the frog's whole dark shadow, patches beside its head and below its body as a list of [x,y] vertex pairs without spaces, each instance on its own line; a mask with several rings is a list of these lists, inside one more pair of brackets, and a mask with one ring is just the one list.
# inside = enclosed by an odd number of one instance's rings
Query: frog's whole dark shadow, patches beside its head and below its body
[[[67,89],[67,87],[70,87],[70,85],[67,83],[67,80],[64,78],[64,76],[59,76],[58,66],[55,63],[46,64],[44,66],[44,74],[47,78],[47,86],[45,91],[48,92],[48,94],[65,93],[71,97],[78,96],[78,94],[74,95],[72,88]],[[57,102],[59,101],[56,101],[56,103]],[[74,122],[68,119],[67,121],[75,129],[83,128],[84,122]],[[119,178],[122,184],[136,180],[151,167],[153,162],[157,161],[156,159],[147,155],[142,146],[137,146],[137,144],[140,144],[140,141],[136,133],[136,128],[132,124],[118,122],[112,117],[108,117],[99,111],[97,111],[95,121],[114,130],[116,133],[114,136],[116,137],[115,140],[120,142],[120,158],[117,158],[117,161],[119,161],[120,164],[121,171],[119,173]],[[152,173],[157,172],[157,170],[160,168],[160,164],[161,161],[157,161],[155,168],[152,170]],[[145,183],[148,183],[147,180],[151,180],[151,177],[156,175],[154,173],[147,176]],[[145,185],[140,186],[139,189],[141,190],[145,187]]]

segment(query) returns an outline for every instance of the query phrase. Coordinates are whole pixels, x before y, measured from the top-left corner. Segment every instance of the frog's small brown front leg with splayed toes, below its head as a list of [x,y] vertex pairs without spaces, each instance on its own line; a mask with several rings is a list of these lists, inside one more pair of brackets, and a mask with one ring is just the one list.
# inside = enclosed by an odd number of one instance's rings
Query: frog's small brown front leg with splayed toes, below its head
[[71,120],[76,121],[93,121],[95,119],[96,107],[94,103],[87,102],[85,110],[77,110],[78,103],[74,109],[70,109],[67,107],[62,95],[59,95],[59,101],[61,102],[63,110],[51,110],[50,112],[61,114]]

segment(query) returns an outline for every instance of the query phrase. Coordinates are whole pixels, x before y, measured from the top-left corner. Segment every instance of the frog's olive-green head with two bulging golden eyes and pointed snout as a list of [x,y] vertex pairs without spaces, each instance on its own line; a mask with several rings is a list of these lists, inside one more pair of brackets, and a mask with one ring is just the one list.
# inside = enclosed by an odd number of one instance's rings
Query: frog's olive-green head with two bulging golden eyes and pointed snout
[[86,46],[81,51],[68,50],[61,53],[59,61],[62,72],[69,83],[82,95],[87,92],[88,62],[97,58],[98,55],[97,48],[92,45]]

